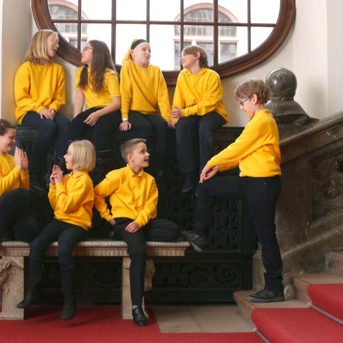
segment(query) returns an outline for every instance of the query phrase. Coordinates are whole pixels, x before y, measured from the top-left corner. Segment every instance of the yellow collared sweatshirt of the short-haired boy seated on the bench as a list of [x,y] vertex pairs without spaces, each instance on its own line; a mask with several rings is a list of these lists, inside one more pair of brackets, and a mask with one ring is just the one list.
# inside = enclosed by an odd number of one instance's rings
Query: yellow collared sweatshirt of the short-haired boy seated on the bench
[[[131,167],[112,170],[94,188],[95,208],[107,221],[126,217],[136,220],[140,227],[157,215],[158,191],[155,179],[144,172],[136,175]],[[105,197],[109,196],[111,212]]]

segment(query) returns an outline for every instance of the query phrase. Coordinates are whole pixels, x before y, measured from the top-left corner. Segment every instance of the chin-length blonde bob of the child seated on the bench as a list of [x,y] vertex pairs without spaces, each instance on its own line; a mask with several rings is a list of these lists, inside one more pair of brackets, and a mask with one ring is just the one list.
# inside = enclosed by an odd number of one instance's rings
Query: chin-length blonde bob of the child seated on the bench
[[74,168],[87,173],[91,172],[96,162],[94,145],[85,139],[74,141],[70,145],[73,146],[72,162]]

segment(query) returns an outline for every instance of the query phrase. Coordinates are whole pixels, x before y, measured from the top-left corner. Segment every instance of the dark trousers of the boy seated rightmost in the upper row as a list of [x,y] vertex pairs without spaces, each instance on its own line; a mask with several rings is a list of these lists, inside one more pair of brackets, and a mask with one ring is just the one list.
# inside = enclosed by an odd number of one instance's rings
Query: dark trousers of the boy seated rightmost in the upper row
[[189,116],[179,119],[175,130],[179,167],[182,174],[196,171],[192,132],[198,131],[199,133],[199,172],[201,172],[208,160],[214,156],[214,133],[224,123],[224,119],[217,112],[209,112],[204,116]]

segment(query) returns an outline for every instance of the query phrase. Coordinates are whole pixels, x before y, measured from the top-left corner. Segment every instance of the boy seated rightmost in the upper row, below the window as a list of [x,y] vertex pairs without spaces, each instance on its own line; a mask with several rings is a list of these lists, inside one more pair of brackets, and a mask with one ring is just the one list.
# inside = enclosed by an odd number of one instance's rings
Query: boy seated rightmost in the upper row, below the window
[[[200,168],[214,155],[214,133],[228,121],[219,75],[210,70],[206,51],[198,45],[182,50],[184,68],[176,84],[170,117],[176,122],[180,172],[185,175],[182,192],[193,190],[196,167],[191,132],[199,133]],[[175,122],[173,122],[174,124]]]

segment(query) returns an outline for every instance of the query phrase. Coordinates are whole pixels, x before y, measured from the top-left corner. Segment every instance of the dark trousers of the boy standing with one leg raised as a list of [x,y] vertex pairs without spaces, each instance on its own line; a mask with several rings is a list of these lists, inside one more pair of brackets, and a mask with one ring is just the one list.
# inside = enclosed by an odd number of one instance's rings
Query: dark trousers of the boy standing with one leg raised
[[276,239],[275,209],[281,191],[279,176],[250,178],[238,176],[214,177],[197,188],[197,207],[193,232],[206,236],[211,225],[214,198],[246,199],[256,237],[262,246],[265,289],[279,292],[282,285],[282,260]]

